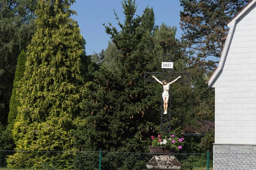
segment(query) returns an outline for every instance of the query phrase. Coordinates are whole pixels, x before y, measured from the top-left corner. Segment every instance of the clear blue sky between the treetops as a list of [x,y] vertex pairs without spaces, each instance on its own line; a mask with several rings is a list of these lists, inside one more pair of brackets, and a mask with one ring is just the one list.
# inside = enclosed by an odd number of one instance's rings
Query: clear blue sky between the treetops
[[[86,40],[87,55],[93,54],[93,51],[99,53],[102,49],[108,47],[110,36],[105,32],[103,23],[112,23],[117,29],[115,20],[115,9],[119,21],[123,23],[124,14],[122,13],[122,0],[76,0],[71,9],[77,12],[77,16],[72,18],[78,21],[81,35]],[[153,7],[155,14],[155,25],[165,23],[168,26],[176,26],[176,38],[179,39],[182,34],[180,29],[180,6],[179,0],[136,0],[137,15],[141,16],[143,10],[148,6]]]

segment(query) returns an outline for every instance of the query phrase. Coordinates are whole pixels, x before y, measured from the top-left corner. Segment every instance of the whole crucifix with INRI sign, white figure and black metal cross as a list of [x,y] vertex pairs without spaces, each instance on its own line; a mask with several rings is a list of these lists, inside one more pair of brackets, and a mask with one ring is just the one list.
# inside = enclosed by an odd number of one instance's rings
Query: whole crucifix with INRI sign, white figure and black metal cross
[[[164,80],[167,82],[190,82],[190,73],[176,73],[176,72],[172,72],[172,69],[173,69],[172,55],[164,54],[161,73],[149,73],[149,72],[144,73],[144,82],[159,82],[160,84],[163,85],[160,130],[169,132],[169,134],[171,132],[172,83],[167,84],[164,82]],[[161,83],[162,81],[163,83]],[[168,89],[166,90],[166,88]],[[168,90],[169,90],[169,95],[167,92]],[[167,99],[167,100],[169,99],[169,114],[167,114],[167,106],[166,106],[168,103],[165,103],[164,99]]]

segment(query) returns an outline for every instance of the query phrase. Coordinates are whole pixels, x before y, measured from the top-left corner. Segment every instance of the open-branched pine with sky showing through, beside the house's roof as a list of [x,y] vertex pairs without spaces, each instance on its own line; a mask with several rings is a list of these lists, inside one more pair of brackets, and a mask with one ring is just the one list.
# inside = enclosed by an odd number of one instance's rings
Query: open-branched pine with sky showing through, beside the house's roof
[[249,1],[180,0],[181,39],[195,67],[204,73],[216,67],[228,31],[226,23]]

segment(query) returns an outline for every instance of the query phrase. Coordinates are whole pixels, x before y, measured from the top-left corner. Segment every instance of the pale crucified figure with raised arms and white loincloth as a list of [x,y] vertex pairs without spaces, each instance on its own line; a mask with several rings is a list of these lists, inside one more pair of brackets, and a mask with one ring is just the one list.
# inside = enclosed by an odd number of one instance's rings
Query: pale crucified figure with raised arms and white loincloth
[[165,80],[163,80],[162,82],[159,81],[159,79],[157,79],[156,77],[152,76],[154,79],[157,80],[157,82],[159,82],[161,85],[163,85],[163,93],[162,93],[162,97],[163,97],[163,108],[164,108],[164,113],[163,114],[167,114],[167,108],[168,108],[168,100],[169,100],[169,86],[176,82],[181,76],[179,76],[177,79],[173,80],[172,82],[166,83]]

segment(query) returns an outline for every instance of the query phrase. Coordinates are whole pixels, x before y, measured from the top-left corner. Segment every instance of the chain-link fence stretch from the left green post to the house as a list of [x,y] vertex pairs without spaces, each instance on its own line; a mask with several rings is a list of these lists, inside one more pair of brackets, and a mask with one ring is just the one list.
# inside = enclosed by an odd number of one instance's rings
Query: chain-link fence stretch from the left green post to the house
[[[208,158],[208,159],[207,159]],[[208,161],[207,161],[208,160]],[[113,164],[114,162],[114,164]],[[207,170],[212,169],[211,153],[113,153],[102,152],[102,170]]]

